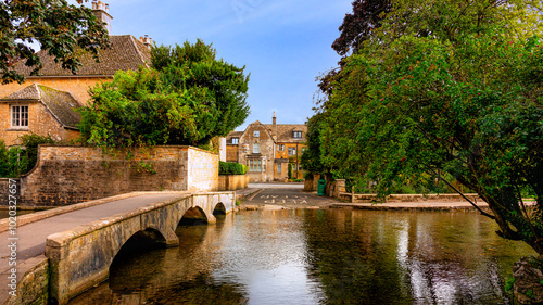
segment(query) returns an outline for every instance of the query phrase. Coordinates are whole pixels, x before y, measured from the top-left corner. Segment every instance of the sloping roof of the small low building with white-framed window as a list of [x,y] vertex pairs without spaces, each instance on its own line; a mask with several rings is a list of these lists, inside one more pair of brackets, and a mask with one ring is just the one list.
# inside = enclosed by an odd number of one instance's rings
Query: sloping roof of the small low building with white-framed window
[[77,129],[81,116],[75,110],[81,104],[68,92],[33,84],[1,99],[3,102],[36,101],[41,102],[51,115],[63,126]]

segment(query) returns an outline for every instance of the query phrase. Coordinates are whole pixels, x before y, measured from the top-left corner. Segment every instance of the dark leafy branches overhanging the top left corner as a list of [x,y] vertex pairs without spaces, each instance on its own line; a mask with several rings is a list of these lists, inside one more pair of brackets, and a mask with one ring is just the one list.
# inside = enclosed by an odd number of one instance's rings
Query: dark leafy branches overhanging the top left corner
[[[83,0],[77,0],[79,4]],[[0,74],[2,84],[24,81],[15,64],[25,61],[36,75],[41,62],[30,43],[38,43],[62,64],[76,73],[81,65],[77,48],[97,56],[109,46],[109,36],[91,10],[68,5],[65,0],[0,1]]]

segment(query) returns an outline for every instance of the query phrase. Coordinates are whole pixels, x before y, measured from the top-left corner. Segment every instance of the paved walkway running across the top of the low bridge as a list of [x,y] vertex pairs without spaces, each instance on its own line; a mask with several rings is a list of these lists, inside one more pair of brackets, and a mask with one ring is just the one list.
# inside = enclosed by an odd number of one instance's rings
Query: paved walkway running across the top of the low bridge
[[[9,240],[10,230],[0,233],[0,304],[3,304],[8,298],[8,278],[10,267],[8,265],[11,250],[8,245],[11,242],[16,242],[16,263],[20,266],[25,260],[42,255],[46,252],[47,237],[76,228],[78,226],[99,220],[101,218],[111,217],[119,213],[126,213],[139,207],[153,205],[160,202],[174,201],[187,196],[188,193],[150,193],[137,196],[130,196],[114,201],[109,201],[100,205],[94,205],[61,215],[48,217],[35,223],[22,225],[16,228],[16,238],[18,240]],[[89,204],[89,203],[83,203]],[[46,211],[41,213],[51,213]],[[38,215],[38,214],[36,214]],[[28,215],[30,216],[30,215]],[[18,269],[18,278],[24,276],[23,270]]]

